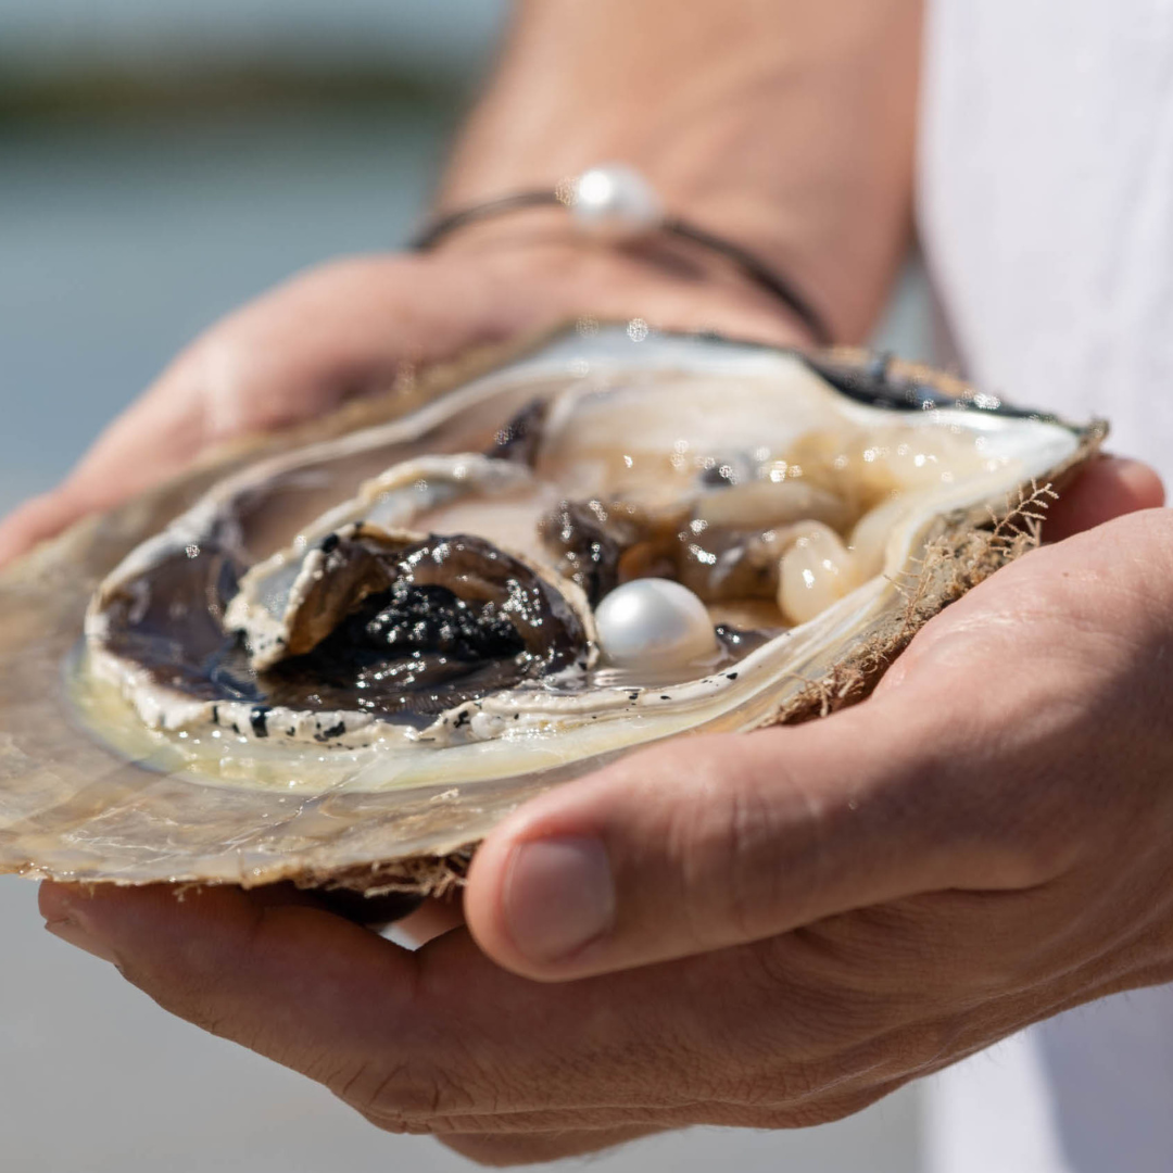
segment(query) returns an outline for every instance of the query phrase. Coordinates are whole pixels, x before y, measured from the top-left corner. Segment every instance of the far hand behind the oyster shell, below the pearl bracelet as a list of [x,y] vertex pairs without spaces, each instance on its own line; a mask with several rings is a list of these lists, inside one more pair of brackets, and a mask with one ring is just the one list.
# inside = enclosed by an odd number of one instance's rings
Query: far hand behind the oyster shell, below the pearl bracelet
[[212,327],[116,419],[57,488],[0,522],[0,565],[86,514],[174,476],[202,453],[388,389],[416,365],[579,314],[801,341],[785,310],[719,269],[536,235],[473,232],[426,256],[338,260]]

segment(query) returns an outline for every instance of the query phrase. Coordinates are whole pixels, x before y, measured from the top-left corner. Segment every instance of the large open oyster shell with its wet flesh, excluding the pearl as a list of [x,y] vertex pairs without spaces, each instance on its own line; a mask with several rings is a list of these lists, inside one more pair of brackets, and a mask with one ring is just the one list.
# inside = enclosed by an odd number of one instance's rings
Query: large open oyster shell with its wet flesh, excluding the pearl
[[[1104,434],[645,333],[439,372],[0,576],[0,870],[436,890],[545,787],[865,696]],[[650,574],[704,599],[706,657],[601,656],[594,605]]]

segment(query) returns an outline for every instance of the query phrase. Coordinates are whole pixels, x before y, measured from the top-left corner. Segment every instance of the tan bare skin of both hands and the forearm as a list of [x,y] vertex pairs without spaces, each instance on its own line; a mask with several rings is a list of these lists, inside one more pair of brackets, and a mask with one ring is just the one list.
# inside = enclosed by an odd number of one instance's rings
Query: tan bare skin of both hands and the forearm
[[[918,13],[830,7],[523,5],[445,198],[625,157],[861,335],[907,240]],[[802,340],[719,265],[584,246],[556,217],[340,263],[201,339],[0,527],[0,560],[218,440],[583,311]],[[524,807],[476,856],[467,928],[434,916],[418,952],[280,889],[47,884],[42,911],[168,1010],[487,1164],[835,1119],[1173,977],[1161,501],[1148,469],[1098,463],[1049,523],[1065,540],[935,619],[865,704],[645,751]],[[605,863],[611,915],[551,948],[568,845]]]

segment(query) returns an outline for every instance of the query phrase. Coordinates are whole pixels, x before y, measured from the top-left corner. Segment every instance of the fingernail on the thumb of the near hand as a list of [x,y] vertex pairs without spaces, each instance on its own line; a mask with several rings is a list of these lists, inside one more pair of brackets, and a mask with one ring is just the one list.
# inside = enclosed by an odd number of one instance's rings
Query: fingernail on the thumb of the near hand
[[506,928],[531,961],[562,961],[615,923],[615,881],[597,839],[538,839],[514,850]]

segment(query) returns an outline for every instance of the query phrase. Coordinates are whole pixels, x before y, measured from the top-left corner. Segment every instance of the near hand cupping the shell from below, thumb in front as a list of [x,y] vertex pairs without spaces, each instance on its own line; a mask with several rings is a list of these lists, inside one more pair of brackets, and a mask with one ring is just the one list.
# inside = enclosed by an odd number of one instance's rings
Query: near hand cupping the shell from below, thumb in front
[[[1104,465],[1066,524],[1159,500]],[[42,911],[168,1010],[483,1161],[816,1124],[1173,977],[1171,652],[1150,509],[997,574],[854,708],[523,807],[468,929],[418,952],[231,888],[49,884]]]

